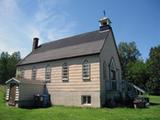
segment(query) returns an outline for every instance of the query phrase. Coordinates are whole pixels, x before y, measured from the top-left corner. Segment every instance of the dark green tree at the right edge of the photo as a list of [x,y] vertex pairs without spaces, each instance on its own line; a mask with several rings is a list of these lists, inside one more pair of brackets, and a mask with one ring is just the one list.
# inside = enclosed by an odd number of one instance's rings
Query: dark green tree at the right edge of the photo
[[147,65],[150,74],[147,87],[153,94],[160,95],[160,45],[150,49]]

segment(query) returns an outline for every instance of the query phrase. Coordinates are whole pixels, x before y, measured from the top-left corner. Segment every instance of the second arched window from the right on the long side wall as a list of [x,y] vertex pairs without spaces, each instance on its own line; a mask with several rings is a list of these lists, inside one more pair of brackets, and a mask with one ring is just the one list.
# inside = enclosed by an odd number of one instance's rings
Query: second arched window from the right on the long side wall
[[68,82],[68,65],[64,63],[62,65],[62,80],[63,82]]

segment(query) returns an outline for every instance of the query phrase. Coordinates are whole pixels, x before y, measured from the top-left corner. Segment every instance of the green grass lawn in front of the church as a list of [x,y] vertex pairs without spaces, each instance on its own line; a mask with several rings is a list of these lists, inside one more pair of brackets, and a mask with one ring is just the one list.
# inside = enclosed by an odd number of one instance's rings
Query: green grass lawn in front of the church
[[160,96],[150,96],[153,105],[145,109],[77,108],[53,106],[22,109],[5,105],[0,87],[0,120],[160,120]]

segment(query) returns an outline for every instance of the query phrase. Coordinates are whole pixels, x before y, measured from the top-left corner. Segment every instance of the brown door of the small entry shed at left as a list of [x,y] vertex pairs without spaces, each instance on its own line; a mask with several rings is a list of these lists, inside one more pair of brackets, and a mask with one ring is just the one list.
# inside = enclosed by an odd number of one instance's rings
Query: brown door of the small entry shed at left
[[9,105],[15,105],[16,84],[10,84]]

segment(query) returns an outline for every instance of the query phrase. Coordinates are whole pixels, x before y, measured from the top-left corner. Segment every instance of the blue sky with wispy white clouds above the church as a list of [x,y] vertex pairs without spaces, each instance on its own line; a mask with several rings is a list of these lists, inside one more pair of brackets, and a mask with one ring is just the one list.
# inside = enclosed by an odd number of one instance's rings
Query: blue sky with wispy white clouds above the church
[[0,0],[0,52],[32,48],[40,43],[99,29],[106,10],[117,44],[135,41],[146,59],[160,44],[160,0]]

